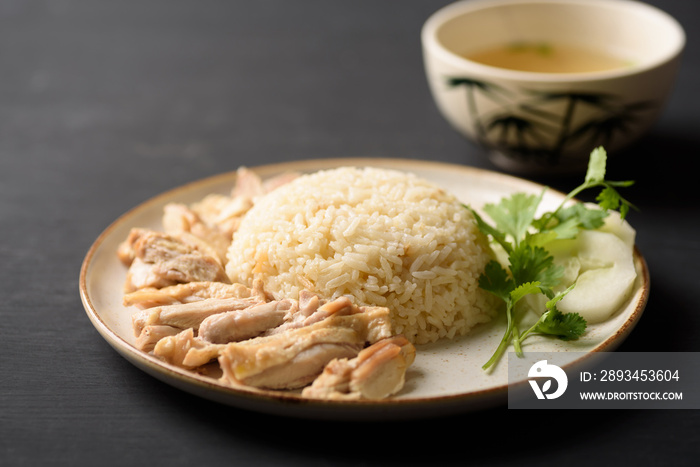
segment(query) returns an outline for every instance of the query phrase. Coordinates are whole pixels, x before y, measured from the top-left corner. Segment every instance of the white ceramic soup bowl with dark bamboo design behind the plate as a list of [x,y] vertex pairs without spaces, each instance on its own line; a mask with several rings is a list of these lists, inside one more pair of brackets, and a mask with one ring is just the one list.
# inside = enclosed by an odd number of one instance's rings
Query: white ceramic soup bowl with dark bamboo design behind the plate
[[[627,64],[608,71],[538,73],[464,58],[509,43],[605,50]],[[632,0],[466,0],[422,30],[428,83],[459,132],[519,173],[583,170],[590,151],[615,154],[643,134],[672,90],[682,27]]]

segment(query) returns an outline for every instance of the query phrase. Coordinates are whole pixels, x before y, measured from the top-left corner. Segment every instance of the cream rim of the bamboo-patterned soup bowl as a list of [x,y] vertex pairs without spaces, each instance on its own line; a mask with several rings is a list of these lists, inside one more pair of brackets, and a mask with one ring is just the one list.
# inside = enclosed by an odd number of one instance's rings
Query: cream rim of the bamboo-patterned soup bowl
[[[639,65],[582,73],[543,73],[484,65],[454,53],[445,47],[437,38],[439,29],[448,21],[459,16],[494,7],[523,4],[583,5],[592,8],[616,7],[642,11],[655,16],[660,21],[666,22],[671,29],[675,30],[676,43],[672,44],[668,52],[661,57],[655,60],[645,61]],[[479,75],[523,82],[571,83],[628,77],[660,68],[680,57],[685,49],[686,33],[678,20],[669,13],[656,6],[638,0],[459,0],[440,8],[428,17],[421,30],[421,41],[423,43],[424,54],[427,55],[429,51],[431,51],[443,61],[448,62],[456,68],[473,70]]]

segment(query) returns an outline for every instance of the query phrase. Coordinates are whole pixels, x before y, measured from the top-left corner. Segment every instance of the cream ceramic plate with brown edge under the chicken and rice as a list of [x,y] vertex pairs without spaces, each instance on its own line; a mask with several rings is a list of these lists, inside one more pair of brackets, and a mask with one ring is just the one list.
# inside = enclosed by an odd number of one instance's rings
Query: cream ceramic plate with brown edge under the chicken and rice
[[[479,207],[498,202],[513,192],[539,194],[543,187],[519,178],[471,167],[402,159],[319,159],[253,168],[263,178],[285,171],[312,172],[339,166],[375,166],[413,172],[454,193],[461,201]],[[507,358],[486,373],[481,369],[502,337],[505,322],[481,326],[469,335],[418,346],[404,389],[383,401],[318,401],[297,394],[265,390],[239,390],[216,380],[166,364],[137,350],[131,327],[131,309],[122,305],[126,268],[116,250],[132,227],[161,229],[163,207],[169,202],[190,203],[209,193],[229,193],[235,172],[196,181],[152,198],[110,225],[88,251],[80,273],[80,294],[95,328],[121,355],[160,380],[217,402],[266,413],[308,418],[397,419],[450,414],[503,404],[507,397]],[[553,209],[562,193],[547,190],[542,208]],[[637,282],[630,300],[610,320],[589,326],[579,340],[563,342],[532,336],[526,352],[610,351],[617,347],[639,320],[649,294],[649,273],[644,258],[635,252]],[[573,358],[573,357],[572,357]]]

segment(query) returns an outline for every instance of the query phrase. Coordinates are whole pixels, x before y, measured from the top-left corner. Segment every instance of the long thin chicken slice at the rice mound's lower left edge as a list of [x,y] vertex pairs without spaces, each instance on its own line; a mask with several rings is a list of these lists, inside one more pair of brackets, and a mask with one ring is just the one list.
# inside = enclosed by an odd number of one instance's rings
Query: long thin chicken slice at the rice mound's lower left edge
[[190,303],[208,298],[258,298],[265,301],[262,290],[249,288],[243,284],[225,284],[223,282],[198,281],[162,287],[147,287],[124,295],[124,306],[136,306],[141,309],[154,306]]

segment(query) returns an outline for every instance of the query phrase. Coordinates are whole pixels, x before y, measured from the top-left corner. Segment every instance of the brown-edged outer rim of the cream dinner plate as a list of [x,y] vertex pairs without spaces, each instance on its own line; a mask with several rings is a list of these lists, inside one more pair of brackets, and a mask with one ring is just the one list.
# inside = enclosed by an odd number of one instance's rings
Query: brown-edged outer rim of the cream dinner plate
[[[471,173],[478,177],[489,177],[492,179],[499,179],[505,182],[515,183],[521,186],[529,186],[530,188],[543,189],[547,188],[552,193],[557,195],[565,196],[564,193],[552,189],[546,185],[527,180],[525,178],[520,178],[507,173],[496,172],[488,169],[483,169],[479,167],[473,167],[468,165],[461,165],[442,161],[429,161],[422,159],[405,159],[405,158],[393,158],[393,157],[343,157],[343,158],[311,158],[302,159],[295,161],[286,161],[280,163],[269,163],[262,164],[258,166],[244,166],[255,173],[259,173],[264,176],[264,174],[269,173],[283,173],[294,169],[295,171],[306,170],[325,170],[326,167],[341,167],[341,166],[372,166],[373,164],[388,164],[396,163],[400,164],[400,169],[402,171],[411,171],[411,167],[414,168],[442,168],[459,170],[467,173]],[[318,168],[318,166],[323,166]],[[420,176],[419,173],[417,173]],[[222,398],[236,396],[241,399],[246,399],[248,402],[253,402],[258,405],[255,409],[261,412],[270,412],[278,414],[279,410],[268,411],[266,407],[260,407],[261,404],[270,404],[275,402],[277,404],[289,404],[293,407],[293,410],[289,411],[290,415],[300,416],[300,415],[310,415],[314,418],[326,418],[328,414],[324,414],[323,409],[331,408],[333,410],[332,418],[337,418],[338,411],[347,412],[347,414],[354,414],[353,418],[366,418],[367,413],[365,410],[357,411],[358,409],[376,409],[381,407],[384,411],[394,411],[394,409],[421,409],[430,406],[434,408],[436,405],[442,405],[450,410],[458,403],[473,402],[478,403],[479,401],[496,401],[503,399],[508,390],[508,384],[502,384],[486,389],[478,389],[474,391],[469,391],[466,393],[459,394],[447,394],[438,395],[432,397],[415,397],[409,399],[397,399],[388,398],[382,400],[323,400],[323,399],[310,399],[301,397],[299,394],[295,393],[285,393],[281,391],[264,390],[264,389],[248,389],[245,387],[226,387],[221,384],[217,384],[212,381],[208,381],[205,377],[193,374],[184,370],[182,368],[176,367],[174,365],[168,364],[161,360],[158,360],[155,356],[148,353],[142,352],[131,344],[129,344],[124,338],[119,336],[115,331],[113,331],[100,317],[96,307],[94,306],[92,299],[88,293],[88,273],[90,266],[93,264],[93,260],[98,250],[104,243],[105,239],[119,227],[125,220],[129,217],[136,215],[138,212],[145,211],[149,209],[152,205],[158,204],[165,199],[172,198],[178,193],[186,192],[188,190],[196,189],[198,187],[203,187],[210,184],[215,184],[217,182],[222,182],[227,179],[235,180],[236,170],[230,170],[226,172],[221,172],[196,180],[186,182],[184,184],[178,185],[176,187],[170,188],[166,191],[158,193],[150,198],[145,199],[139,204],[131,207],[127,211],[123,212],[116,219],[114,219],[102,232],[97,236],[93,243],[88,248],[85,257],[82,261],[80,267],[80,276],[78,281],[80,298],[85,309],[88,318],[90,319],[93,326],[96,328],[98,333],[102,336],[107,343],[116,350],[122,357],[126,358],[135,366],[148,372],[152,376],[164,381],[172,386],[178,387],[181,390],[198,394],[194,392],[194,388],[183,387],[187,385],[193,385],[195,388],[207,389],[214,392],[213,395],[221,395]],[[593,356],[595,353],[614,350],[622,341],[629,335],[632,329],[635,327],[648,302],[650,293],[650,273],[646,262],[646,259],[642,255],[639,248],[635,245],[634,247],[634,259],[638,264],[641,271],[641,295],[635,304],[634,311],[630,316],[624,321],[624,323],[615,330],[614,334],[609,336],[607,339],[596,345],[593,349],[587,351],[585,355],[579,359],[569,363],[567,366],[578,365],[584,360],[587,360]],[[174,384],[174,379],[179,384]],[[230,402],[220,400],[218,397],[213,397],[213,395],[198,394],[200,397],[208,398],[210,400],[215,400],[218,402],[225,403],[227,405],[234,405],[241,408],[245,408],[240,404],[231,404]],[[270,404],[273,405],[273,404]],[[486,404],[488,405],[488,404]],[[485,406],[486,406],[485,405]],[[304,410],[308,410],[309,407],[314,409],[321,409],[321,411],[315,411],[315,413],[304,414]],[[317,412],[317,413],[316,413]],[[433,411],[434,415],[440,415],[439,411]],[[385,412],[382,415],[386,415]],[[414,416],[415,414],[412,414]],[[427,414],[426,414],[427,415]],[[383,417],[385,418],[385,417]]]

